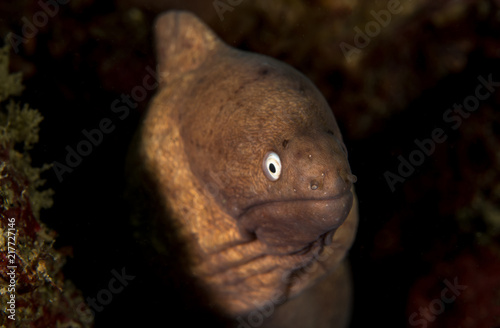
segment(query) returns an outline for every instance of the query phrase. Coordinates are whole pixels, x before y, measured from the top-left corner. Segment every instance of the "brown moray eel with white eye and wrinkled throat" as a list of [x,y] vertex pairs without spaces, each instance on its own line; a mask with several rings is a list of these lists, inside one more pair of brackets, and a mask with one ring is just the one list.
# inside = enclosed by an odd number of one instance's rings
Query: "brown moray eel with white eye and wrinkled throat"
[[154,185],[154,220],[175,227],[211,308],[233,327],[346,326],[356,177],[324,97],[190,13],[162,14],[155,34],[160,86],[137,135],[139,180]]

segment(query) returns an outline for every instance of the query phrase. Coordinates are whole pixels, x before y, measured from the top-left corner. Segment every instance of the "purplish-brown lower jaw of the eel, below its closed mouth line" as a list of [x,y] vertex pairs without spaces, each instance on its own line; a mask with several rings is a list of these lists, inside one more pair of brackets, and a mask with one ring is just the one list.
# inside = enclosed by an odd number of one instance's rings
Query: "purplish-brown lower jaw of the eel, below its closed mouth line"
[[352,203],[350,189],[328,198],[273,200],[247,208],[238,225],[242,233],[265,243],[271,254],[291,254],[319,238],[331,243]]

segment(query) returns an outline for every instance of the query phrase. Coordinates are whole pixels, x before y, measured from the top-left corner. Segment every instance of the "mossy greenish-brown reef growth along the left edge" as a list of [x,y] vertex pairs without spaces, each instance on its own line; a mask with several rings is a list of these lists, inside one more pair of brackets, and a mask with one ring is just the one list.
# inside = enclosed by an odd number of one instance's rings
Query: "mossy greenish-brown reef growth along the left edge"
[[54,249],[56,234],[39,219],[52,206],[53,191],[39,190],[50,166],[32,167],[27,151],[43,118],[9,99],[23,86],[19,73],[8,73],[8,53],[0,50],[0,326],[90,327],[80,292],[61,272],[67,254]]

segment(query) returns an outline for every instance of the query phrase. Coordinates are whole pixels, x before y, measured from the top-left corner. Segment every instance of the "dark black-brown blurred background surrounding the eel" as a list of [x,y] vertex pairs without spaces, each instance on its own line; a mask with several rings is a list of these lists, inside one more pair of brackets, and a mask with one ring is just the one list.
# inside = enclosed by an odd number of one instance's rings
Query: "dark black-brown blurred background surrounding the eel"
[[[34,166],[65,164],[66,146],[75,149],[83,129],[103,118],[115,125],[62,182],[53,170],[43,176],[55,196],[41,219],[57,231],[56,248],[73,249],[65,277],[85,298],[107,288],[113,269],[136,277],[96,314],[96,327],[193,320],[153,278],[151,254],[132,237],[123,200],[127,149],[154,92],[124,119],[111,110],[155,67],[152,24],[169,9],[192,10],[227,43],[288,62],[332,106],[358,177],[352,327],[410,327],[410,315],[455,277],[467,291],[429,327],[500,325],[500,92],[456,130],[443,120],[474,94],[479,75],[500,81],[498,2],[401,6],[351,60],[340,43],[354,45],[354,28],[364,30],[374,20],[370,11],[386,2],[243,1],[221,21],[211,1],[73,0],[12,52],[12,70],[24,74],[21,99],[45,118]],[[37,2],[2,2],[1,35],[22,35],[22,18],[39,10]],[[408,159],[414,139],[430,138],[435,128],[447,140],[392,192],[384,173],[397,174],[398,156]]]

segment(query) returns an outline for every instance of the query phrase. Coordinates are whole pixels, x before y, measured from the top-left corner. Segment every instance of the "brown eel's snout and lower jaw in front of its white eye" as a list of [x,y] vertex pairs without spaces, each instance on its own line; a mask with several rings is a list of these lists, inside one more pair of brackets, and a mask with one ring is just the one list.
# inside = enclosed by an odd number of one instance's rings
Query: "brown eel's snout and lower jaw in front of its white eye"
[[333,138],[301,138],[291,140],[281,157],[279,195],[245,209],[240,229],[263,242],[270,254],[299,252],[319,238],[328,244],[353,204],[356,177],[347,154]]

